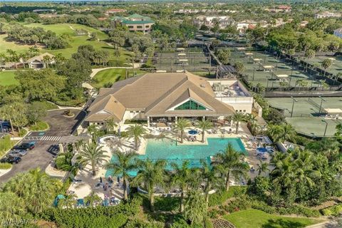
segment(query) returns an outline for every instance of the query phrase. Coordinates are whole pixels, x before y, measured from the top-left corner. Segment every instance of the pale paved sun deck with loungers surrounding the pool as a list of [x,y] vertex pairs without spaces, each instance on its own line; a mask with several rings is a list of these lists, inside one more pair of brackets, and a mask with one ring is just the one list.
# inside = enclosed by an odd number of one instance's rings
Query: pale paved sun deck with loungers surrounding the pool
[[[224,127],[225,130],[229,130],[229,128],[231,127]],[[234,130],[235,128],[232,127],[233,133],[224,133],[223,135],[222,133],[217,133],[217,134],[206,133],[204,135],[204,139],[205,139],[204,143],[207,143],[207,138],[222,138],[222,136],[224,138],[241,138],[244,144],[244,147],[246,151],[248,152],[246,161],[249,163],[249,166],[253,166],[254,169],[257,169],[257,164],[260,163],[260,160],[255,155],[256,148],[251,143],[249,143],[249,138],[252,137],[252,134],[249,132],[246,124],[244,123],[242,123],[239,126],[238,134],[235,134]],[[175,139],[175,135],[172,135],[172,133],[170,134],[166,133],[165,137]],[[197,135],[197,141],[190,142],[188,140],[184,140],[184,145],[203,145],[203,143],[200,142],[200,140],[202,140],[202,135],[199,134]],[[141,140],[138,154],[141,155],[145,153],[145,149],[147,145],[146,142],[147,142],[146,140]],[[111,157],[113,156],[113,153],[112,153],[113,148],[108,147],[108,145],[102,145],[102,146],[103,146],[103,150],[105,150],[105,155],[108,156],[106,158],[106,162],[109,162]],[[133,150],[133,149],[134,149],[133,139],[125,140],[124,146],[121,148],[121,150],[125,151],[125,150]],[[98,184],[98,182],[100,182],[100,177],[103,178],[103,182],[107,182],[107,180],[105,180],[105,172],[107,170],[105,170],[105,168],[103,167],[103,165],[105,165],[106,162],[103,162],[103,164],[100,167],[97,167],[95,176],[92,175],[90,165],[86,165],[86,167],[84,167],[83,170],[79,170],[75,178],[76,180],[82,180],[82,182],[72,183],[68,190],[75,192],[78,198],[84,198],[90,195],[90,192],[94,191],[102,199],[104,199],[105,196],[107,197],[114,196],[114,197],[117,197],[118,199],[122,199],[123,198],[122,183],[118,184],[116,177],[112,177],[114,180],[114,183],[113,183],[113,186],[109,190],[104,191],[102,187],[95,189],[95,185]],[[249,172],[249,177],[254,178],[256,176],[257,176],[257,171]]]

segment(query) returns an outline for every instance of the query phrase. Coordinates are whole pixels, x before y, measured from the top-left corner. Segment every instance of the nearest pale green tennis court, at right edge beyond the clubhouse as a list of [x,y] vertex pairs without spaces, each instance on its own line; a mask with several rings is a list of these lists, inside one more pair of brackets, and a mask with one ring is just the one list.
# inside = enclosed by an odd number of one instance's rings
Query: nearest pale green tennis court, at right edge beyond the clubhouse
[[[294,126],[297,132],[322,137],[326,129],[326,136],[333,136],[336,125],[342,120],[323,118],[324,108],[342,108],[342,98],[267,98],[271,107],[284,110],[286,122]],[[291,109],[294,105],[294,113],[291,118]],[[322,120],[326,120],[326,123]]]

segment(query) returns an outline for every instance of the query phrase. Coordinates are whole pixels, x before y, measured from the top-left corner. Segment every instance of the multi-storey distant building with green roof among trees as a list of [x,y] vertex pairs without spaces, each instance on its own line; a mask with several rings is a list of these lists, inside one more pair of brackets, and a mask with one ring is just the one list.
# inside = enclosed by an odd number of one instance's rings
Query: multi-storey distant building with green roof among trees
[[119,21],[127,26],[129,31],[141,31],[144,34],[150,33],[152,25],[155,24],[155,21],[152,21],[150,17],[139,14],[133,14],[125,18],[116,16],[113,21]]

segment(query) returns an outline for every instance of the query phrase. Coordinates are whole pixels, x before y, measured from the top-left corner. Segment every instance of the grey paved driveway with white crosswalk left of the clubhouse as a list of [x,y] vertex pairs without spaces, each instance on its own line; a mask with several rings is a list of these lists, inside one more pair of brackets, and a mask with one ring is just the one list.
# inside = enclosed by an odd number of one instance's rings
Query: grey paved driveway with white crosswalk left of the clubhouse
[[[26,172],[36,167],[40,167],[41,170],[45,170],[49,162],[51,162],[58,152],[56,151],[58,139],[61,136],[71,135],[73,130],[83,120],[86,114],[80,110],[72,110],[72,112],[75,113],[73,118],[66,118],[63,116],[63,110],[53,110],[48,112],[46,122],[50,125],[50,129],[46,132],[35,132],[28,135],[28,137],[43,136],[43,138],[36,141],[34,149],[22,157],[19,164],[13,165],[10,172],[0,177],[0,182],[6,182],[6,180],[9,180],[9,178],[13,177],[17,173]],[[48,140],[43,140],[44,136]],[[24,140],[22,142],[31,142],[31,140]],[[55,146],[53,147],[53,145]]]

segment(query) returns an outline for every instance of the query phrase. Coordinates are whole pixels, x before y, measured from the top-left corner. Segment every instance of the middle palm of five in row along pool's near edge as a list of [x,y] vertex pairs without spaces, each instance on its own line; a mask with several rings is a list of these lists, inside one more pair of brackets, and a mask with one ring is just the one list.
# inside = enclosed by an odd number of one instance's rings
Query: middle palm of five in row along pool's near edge
[[185,192],[189,190],[190,185],[195,181],[195,172],[190,168],[189,160],[183,161],[180,166],[172,162],[171,166],[173,170],[171,175],[172,185],[180,187],[180,212],[182,213],[184,211]]

